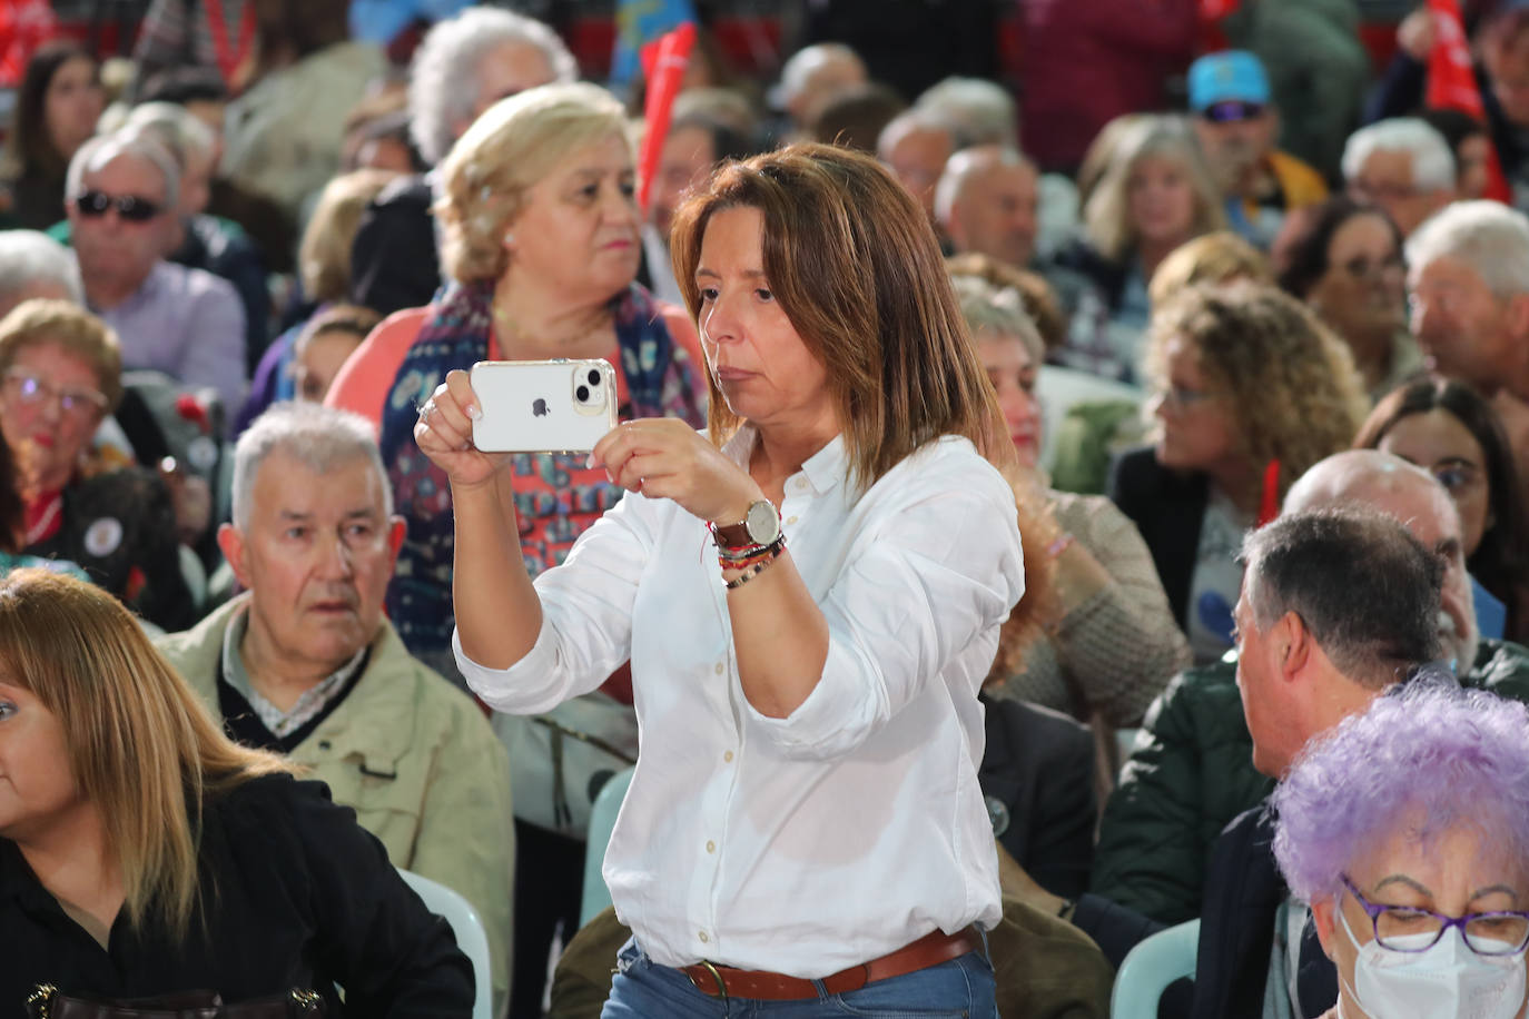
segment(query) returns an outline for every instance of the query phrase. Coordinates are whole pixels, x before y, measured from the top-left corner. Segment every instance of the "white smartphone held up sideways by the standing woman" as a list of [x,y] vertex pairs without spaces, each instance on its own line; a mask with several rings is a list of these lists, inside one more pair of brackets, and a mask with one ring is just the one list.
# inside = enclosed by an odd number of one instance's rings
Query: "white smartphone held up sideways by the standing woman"
[[581,361],[480,361],[468,374],[483,452],[589,452],[616,426],[616,371]]

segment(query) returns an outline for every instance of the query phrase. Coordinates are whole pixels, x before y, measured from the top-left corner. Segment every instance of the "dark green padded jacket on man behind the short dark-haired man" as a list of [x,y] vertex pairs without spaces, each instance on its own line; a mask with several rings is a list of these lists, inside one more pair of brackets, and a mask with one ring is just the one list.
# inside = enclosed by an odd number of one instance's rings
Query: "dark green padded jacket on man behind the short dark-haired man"
[[[1529,648],[1483,640],[1462,681],[1529,701]],[[1199,917],[1222,828],[1272,790],[1252,767],[1232,655],[1180,672],[1147,710],[1104,808],[1090,891],[1165,924]]]

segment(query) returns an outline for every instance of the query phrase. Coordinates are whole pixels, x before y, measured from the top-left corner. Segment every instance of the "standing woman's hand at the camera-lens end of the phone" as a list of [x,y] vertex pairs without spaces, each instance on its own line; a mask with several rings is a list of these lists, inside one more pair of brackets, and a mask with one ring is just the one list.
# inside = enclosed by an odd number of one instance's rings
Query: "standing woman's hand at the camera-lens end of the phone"
[[673,417],[625,422],[595,445],[590,466],[605,467],[612,483],[656,500],[673,500],[699,519],[723,527],[743,519],[760,486],[706,442]]

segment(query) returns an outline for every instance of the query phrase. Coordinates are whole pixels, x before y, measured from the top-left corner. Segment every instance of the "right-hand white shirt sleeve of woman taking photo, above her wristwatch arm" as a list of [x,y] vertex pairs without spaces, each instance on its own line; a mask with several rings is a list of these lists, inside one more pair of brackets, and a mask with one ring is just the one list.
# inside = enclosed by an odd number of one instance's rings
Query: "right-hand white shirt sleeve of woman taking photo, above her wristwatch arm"
[[781,753],[847,755],[930,683],[976,698],[998,628],[1024,593],[1014,493],[988,464],[976,467],[920,478],[853,539],[820,599],[829,654],[818,684],[786,718],[746,704]]

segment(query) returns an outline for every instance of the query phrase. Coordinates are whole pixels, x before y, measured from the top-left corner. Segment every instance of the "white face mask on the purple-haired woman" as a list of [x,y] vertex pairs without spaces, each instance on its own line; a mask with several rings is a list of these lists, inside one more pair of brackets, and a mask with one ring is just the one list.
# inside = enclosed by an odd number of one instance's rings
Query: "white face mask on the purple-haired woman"
[[[1477,955],[1453,929],[1423,952],[1394,952],[1379,941],[1359,944],[1341,907],[1338,920],[1359,952],[1349,993],[1370,1019],[1514,1019],[1524,1004],[1523,955]],[[1407,947],[1431,937],[1391,941]]]

